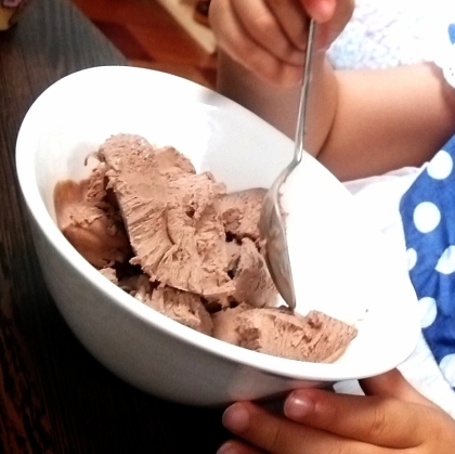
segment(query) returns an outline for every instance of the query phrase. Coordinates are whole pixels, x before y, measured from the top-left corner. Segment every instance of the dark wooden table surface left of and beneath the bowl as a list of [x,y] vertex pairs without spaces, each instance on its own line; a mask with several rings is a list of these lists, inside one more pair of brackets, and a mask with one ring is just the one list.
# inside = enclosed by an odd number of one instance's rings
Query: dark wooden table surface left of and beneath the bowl
[[41,278],[14,161],[28,107],[75,70],[126,64],[70,3],[34,0],[0,33],[0,438],[9,453],[214,453],[220,408],[145,394],[77,341]]

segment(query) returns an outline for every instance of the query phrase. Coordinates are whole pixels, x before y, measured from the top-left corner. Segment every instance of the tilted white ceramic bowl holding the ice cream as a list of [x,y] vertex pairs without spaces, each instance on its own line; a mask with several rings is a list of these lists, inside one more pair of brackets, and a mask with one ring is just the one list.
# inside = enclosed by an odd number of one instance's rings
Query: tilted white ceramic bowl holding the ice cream
[[298,310],[320,309],[348,322],[364,319],[336,363],[297,362],[224,343],[108,282],[58,231],[52,194],[58,180],[88,176],[86,156],[118,132],[176,146],[229,190],[269,186],[292,155],[292,142],[253,114],[158,72],[82,70],[34,103],[18,134],[16,160],[44,278],[69,327],[114,374],[165,399],[217,405],[373,376],[411,354],[419,322],[404,263],[362,218],[353,197],[310,156],[284,197]]

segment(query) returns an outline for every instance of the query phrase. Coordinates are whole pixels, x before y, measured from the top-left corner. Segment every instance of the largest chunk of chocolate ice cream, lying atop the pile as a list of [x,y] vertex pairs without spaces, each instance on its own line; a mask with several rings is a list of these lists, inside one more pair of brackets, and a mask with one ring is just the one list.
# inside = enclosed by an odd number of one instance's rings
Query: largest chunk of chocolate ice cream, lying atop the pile
[[[157,159],[153,146],[138,135],[108,139],[100,155],[135,252],[133,262],[152,280],[174,288],[232,293],[218,212],[224,186],[208,173],[188,172],[172,153]],[[166,168],[173,169],[171,178],[164,176]]]

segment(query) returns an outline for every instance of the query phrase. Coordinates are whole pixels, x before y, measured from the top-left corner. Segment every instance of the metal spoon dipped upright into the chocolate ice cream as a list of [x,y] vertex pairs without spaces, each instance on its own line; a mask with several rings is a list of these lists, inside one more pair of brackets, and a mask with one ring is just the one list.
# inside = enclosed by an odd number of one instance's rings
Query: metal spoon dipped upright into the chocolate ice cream
[[310,21],[304,73],[300,91],[299,113],[295,139],[294,158],[280,173],[265,194],[262,203],[259,230],[265,241],[265,261],[276,289],[290,310],[296,309],[296,293],[294,289],[292,271],[286,238],[286,228],[280,206],[280,189],[292,170],[300,164],[303,156],[303,137],[307,117],[307,101],[311,77],[311,61],[313,55],[315,23]]

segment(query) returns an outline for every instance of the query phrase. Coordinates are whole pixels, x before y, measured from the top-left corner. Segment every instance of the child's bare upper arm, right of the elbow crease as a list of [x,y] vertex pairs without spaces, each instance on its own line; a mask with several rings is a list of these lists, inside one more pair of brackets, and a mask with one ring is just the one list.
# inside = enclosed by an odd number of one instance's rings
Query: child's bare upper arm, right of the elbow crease
[[314,152],[341,180],[420,166],[455,133],[455,90],[433,64],[336,72],[336,114]]

